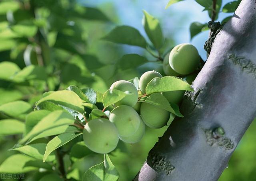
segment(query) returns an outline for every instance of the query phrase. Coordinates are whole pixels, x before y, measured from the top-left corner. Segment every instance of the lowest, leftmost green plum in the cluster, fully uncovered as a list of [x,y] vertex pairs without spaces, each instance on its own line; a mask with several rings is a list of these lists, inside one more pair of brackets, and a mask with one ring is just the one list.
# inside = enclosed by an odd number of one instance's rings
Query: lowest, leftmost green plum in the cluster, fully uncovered
[[90,120],[84,126],[83,137],[90,150],[102,154],[113,151],[119,141],[116,126],[104,118]]

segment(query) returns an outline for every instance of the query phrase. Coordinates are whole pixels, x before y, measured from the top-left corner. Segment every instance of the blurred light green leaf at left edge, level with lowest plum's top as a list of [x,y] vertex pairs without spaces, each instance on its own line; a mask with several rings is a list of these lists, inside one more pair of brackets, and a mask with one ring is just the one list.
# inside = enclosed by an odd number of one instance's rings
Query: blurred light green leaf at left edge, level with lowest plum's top
[[0,135],[22,134],[24,123],[15,119],[0,120]]

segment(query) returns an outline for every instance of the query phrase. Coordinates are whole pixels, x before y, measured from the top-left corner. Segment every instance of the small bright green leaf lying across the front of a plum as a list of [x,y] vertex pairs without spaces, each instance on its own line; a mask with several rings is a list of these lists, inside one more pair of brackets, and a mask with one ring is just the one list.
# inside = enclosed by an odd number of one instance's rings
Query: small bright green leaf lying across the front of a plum
[[127,96],[128,94],[131,94],[129,92],[122,92],[119,90],[108,90],[103,94],[103,98],[102,98],[102,102],[104,105],[104,108],[118,102],[119,100],[121,100],[122,98],[124,98],[125,96]]

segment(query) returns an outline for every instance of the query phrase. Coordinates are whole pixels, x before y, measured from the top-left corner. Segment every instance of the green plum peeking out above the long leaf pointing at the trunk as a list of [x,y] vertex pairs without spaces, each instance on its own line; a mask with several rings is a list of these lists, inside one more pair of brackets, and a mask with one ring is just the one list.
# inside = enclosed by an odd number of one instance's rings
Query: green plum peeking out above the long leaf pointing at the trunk
[[139,88],[142,94],[146,94],[146,87],[148,83],[155,77],[162,78],[162,75],[156,71],[147,71],[140,77]]

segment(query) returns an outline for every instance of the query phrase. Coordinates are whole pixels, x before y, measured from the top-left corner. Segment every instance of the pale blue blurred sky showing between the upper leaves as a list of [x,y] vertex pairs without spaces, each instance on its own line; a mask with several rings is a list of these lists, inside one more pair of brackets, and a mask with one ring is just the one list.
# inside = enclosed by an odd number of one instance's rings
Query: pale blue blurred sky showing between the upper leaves
[[[206,11],[194,0],[184,0],[173,4],[167,10],[165,6],[168,0],[86,0],[84,4],[88,6],[100,6],[103,3],[112,3],[116,8],[122,25],[129,25],[137,28],[142,35],[146,33],[141,24],[142,10],[146,10],[158,18],[161,22],[162,31],[166,37],[172,35],[176,44],[179,43],[192,43],[197,47],[201,57],[206,59],[206,52],[204,51],[204,42],[208,38],[208,31],[202,32],[190,41],[189,26],[192,22],[206,23],[210,20]],[[222,0],[222,6],[230,2],[230,0]],[[220,13],[218,20],[223,20],[230,13]],[[136,52],[136,47],[127,47],[127,51]],[[134,52],[134,53],[135,53]]]

